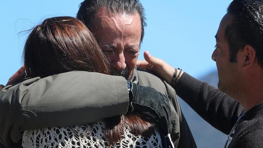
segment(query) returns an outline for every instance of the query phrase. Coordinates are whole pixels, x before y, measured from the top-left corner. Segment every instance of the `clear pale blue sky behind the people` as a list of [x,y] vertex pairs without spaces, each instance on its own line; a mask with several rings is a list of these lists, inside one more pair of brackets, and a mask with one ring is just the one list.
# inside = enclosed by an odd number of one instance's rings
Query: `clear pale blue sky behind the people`
[[[0,84],[22,65],[22,51],[28,30],[45,18],[76,16],[82,0],[0,0]],[[214,36],[231,0],[141,0],[147,27],[141,46],[174,67],[200,77],[216,69],[211,60]]]

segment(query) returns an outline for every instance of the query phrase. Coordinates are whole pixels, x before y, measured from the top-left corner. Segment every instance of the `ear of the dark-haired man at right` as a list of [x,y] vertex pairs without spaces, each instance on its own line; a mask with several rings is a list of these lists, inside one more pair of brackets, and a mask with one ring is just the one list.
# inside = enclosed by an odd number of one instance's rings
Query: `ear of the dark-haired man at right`
[[241,59],[242,67],[244,69],[250,68],[256,60],[256,50],[251,45],[245,45],[241,52]]

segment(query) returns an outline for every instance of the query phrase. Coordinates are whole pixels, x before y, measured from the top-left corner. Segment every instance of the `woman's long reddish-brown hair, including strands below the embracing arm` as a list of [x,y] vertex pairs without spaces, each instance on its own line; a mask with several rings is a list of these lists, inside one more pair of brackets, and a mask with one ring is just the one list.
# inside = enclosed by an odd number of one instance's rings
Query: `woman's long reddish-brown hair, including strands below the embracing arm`
[[[27,38],[24,48],[28,77],[47,77],[68,71],[94,71],[110,74],[109,64],[92,33],[73,17],[45,19]],[[134,135],[150,135],[155,125],[140,115],[105,119],[105,137],[109,144],[120,141],[124,122]]]

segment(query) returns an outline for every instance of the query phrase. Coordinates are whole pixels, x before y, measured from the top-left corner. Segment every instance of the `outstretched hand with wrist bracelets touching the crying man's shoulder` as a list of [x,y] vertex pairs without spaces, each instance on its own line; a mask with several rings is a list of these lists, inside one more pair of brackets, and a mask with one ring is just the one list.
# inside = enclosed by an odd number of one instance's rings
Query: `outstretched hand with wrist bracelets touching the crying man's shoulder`
[[137,67],[153,71],[171,84],[175,68],[167,64],[164,60],[151,56],[148,51],[144,52],[144,59],[137,61]]

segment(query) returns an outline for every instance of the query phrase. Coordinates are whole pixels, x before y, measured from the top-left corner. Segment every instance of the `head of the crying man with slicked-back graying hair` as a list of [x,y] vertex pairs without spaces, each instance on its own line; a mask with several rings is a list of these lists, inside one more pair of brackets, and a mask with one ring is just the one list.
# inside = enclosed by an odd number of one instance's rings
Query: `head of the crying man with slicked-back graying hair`
[[85,0],[77,19],[94,33],[114,70],[128,80],[136,79],[135,66],[146,26],[142,5],[136,0]]

